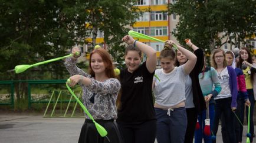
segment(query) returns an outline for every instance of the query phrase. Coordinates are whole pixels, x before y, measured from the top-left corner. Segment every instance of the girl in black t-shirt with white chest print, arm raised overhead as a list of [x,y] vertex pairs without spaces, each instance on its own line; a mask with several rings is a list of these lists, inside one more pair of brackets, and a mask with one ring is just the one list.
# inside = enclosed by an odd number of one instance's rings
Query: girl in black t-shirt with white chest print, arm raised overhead
[[[120,73],[122,85],[117,124],[124,142],[153,143],[156,138],[156,118],[153,108],[152,80],[156,68],[156,50],[134,40],[122,39],[128,44],[125,52],[126,69]],[[142,52],[147,60],[143,64]]]

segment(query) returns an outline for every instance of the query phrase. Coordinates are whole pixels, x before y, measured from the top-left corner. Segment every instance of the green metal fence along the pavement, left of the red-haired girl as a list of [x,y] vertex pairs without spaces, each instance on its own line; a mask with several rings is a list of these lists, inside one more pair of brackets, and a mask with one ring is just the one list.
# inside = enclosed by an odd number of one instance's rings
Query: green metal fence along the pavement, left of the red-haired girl
[[[56,109],[62,110],[65,108],[65,115],[67,114],[68,108],[72,110],[72,115],[77,107],[76,100],[72,99],[71,94],[67,91],[65,86],[66,80],[14,80],[14,81],[0,81],[0,105],[11,105],[14,107],[15,102],[15,86],[19,83],[27,84],[27,97],[28,97],[28,108],[37,107],[40,104],[44,104],[47,110],[52,111],[51,117],[54,116]],[[77,87],[77,96],[81,96],[81,88]],[[53,108],[50,105],[54,105]],[[74,104],[74,105],[73,105]],[[50,108],[49,108],[50,107]],[[45,113],[46,111],[45,110]],[[81,110],[80,110],[81,111]],[[81,111],[81,113],[83,113]]]

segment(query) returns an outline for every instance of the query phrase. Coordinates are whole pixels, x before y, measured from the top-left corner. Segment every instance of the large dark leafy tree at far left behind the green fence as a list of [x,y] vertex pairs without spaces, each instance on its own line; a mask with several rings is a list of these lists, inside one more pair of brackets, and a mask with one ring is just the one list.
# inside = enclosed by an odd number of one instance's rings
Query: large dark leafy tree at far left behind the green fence
[[[46,71],[54,71],[52,75],[58,75],[54,79],[62,78],[66,70],[61,62],[21,74],[6,70],[67,54],[67,48],[86,36],[83,15],[77,14],[81,6],[76,1],[1,1],[0,9],[1,80],[34,79]],[[84,34],[76,35],[76,31]],[[26,88],[25,83],[15,86],[18,100],[27,98]]]

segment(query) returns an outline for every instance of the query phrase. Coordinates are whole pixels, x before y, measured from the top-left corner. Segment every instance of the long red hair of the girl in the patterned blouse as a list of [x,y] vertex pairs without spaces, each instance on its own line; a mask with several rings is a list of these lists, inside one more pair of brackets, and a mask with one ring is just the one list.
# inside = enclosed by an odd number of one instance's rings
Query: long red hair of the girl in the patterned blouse
[[109,78],[114,78],[115,74],[114,74],[113,61],[112,61],[109,53],[105,49],[103,49],[103,48],[94,49],[93,52],[90,53],[90,63],[89,63],[90,69],[89,69],[89,73],[91,74],[91,76],[95,77],[95,73],[91,69],[91,56],[94,53],[97,53],[97,54],[99,54],[101,56],[105,66],[106,66],[106,69],[105,69],[106,76],[109,77]]

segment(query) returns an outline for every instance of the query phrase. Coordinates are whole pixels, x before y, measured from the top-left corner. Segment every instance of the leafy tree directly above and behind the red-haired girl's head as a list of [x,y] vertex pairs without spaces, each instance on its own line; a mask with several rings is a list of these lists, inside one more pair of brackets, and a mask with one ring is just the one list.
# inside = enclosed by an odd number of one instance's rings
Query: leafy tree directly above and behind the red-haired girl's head
[[129,28],[136,22],[136,18],[142,13],[136,4],[136,0],[90,0],[87,1],[87,28],[96,45],[98,31],[104,33],[104,42],[109,47],[109,52],[114,61],[122,64],[124,46],[120,46],[120,39],[127,35]]

